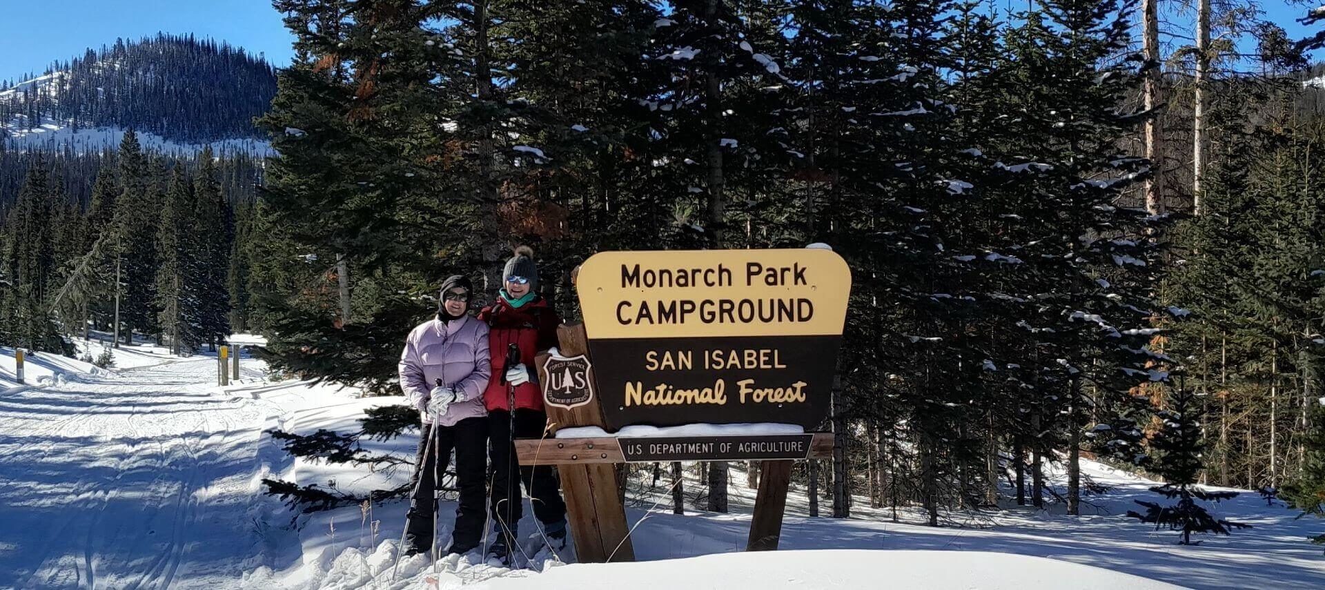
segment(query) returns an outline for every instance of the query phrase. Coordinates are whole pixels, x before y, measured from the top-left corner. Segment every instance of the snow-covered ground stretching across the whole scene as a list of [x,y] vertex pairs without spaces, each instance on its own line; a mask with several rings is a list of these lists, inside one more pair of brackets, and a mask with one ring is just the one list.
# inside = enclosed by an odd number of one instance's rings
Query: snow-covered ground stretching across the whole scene
[[[783,552],[749,554],[754,491],[734,471],[729,514],[689,505],[670,514],[662,487],[636,495],[637,563],[562,565],[574,552],[553,556],[526,520],[527,569],[417,556],[392,582],[404,502],[302,514],[264,496],[260,480],[347,492],[407,480],[407,469],[294,460],[264,432],[352,432],[364,408],[400,398],[268,382],[248,358],[223,390],[212,355],[178,359],[146,345],[115,355],[111,371],[50,361],[61,378],[0,394],[0,587],[1325,587],[1325,558],[1305,541],[1325,522],[1246,493],[1216,513],[1253,529],[1178,546],[1174,533],[1121,516],[1154,496],[1149,481],[1090,461],[1085,473],[1113,489],[1081,517],[1008,506],[929,528],[913,512],[893,522],[857,501],[851,518],[810,518],[794,488]],[[415,442],[364,444],[409,456]],[[440,512],[443,538],[453,509]]]

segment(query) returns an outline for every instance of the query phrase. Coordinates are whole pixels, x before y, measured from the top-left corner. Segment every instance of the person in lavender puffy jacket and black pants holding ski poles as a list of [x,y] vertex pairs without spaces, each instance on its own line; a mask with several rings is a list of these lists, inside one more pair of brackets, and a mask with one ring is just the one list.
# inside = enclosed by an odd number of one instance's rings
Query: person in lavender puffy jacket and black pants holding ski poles
[[[488,411],[484,388],[492,374],[488,325],[469,317],[473,286],[452,276],[441,285],[437,317],[420,324],[400,354],[400,388],[423,418],[405,522],[405,553],[432,550],[433,489],[456,451],[460,506],[447,553],[468,553],[482,538],[486,509]],[[432,443],[428,443],[428,439]]]

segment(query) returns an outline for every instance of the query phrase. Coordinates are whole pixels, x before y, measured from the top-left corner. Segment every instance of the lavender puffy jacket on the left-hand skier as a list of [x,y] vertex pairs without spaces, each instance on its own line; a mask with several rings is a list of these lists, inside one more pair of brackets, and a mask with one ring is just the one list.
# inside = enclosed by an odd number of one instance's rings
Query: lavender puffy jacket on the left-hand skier
[[[466,399],[450,404],[440,426],[488,415],[484,408],[484,388],[492,377],[488,355],[486,324],[469,316],[449,322],[429,320],[405,338],[405,350],[400,353],[400,390],[415,407],[428,399],[437,379],[457,392],[464,391]],[[431,423],[425,414],[421,418],[424,424]]]

